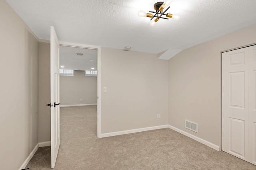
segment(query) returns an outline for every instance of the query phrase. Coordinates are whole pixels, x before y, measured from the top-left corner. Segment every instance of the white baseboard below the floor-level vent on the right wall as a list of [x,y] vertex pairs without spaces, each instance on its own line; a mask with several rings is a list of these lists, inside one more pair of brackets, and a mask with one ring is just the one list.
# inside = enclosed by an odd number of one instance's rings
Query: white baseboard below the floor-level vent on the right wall
[[207,140],[204,140],[204,139],[202,139],[202,138],[199,138],[199,137],[197,137],[197,136],[194,136],[193,134],[190,134],[190,133],[188,133],[188,132],[185,132],[185,131],[183,131],[183,130],[180,130],[180,129],[178,129],[178,128],[176,128],[176,127],[173,127],[173,126],[171,126],[171,125],[168,125],[168,128],[170,128],[170,129],[172,129],[172,130],[175,130],[176,132],[179,132],[179,133],[181,133],[181,134],[184,134],[185,136],[188,136],[188,137],[190,137],[190,138],[192,138],[192,139],[194,139],[194,140],[196,140],[196,141],[198,141],[198,142],[200,142],[200,143],[202,143],[202,144],[205,144],[206,146],[209,146],[209,147],[211,147],[211,148],[213,148],[213,149],[215,149],[215,150],[220,151],[220,146],[217,146],[216,144],[213,144],[213,143],[211,143],[211,142],[208,142]]

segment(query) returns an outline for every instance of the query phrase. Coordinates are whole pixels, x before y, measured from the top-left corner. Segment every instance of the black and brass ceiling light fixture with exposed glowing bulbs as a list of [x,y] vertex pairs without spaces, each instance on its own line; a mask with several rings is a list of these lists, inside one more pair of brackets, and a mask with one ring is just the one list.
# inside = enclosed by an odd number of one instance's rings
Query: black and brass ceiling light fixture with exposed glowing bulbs
[[[167,6],[169,6],[164,12],[163,12],[163,9],[166,8]],[[160,20],[160,18],[162,19],[166,19],[168,20],[169,18],[173,18],[174,20],[179,20],[180,19],[180,16],[176,16],[176,15],[173,15],[173,14],[170,14],[170,13],[166,13],[165,12],[170,8],[170,0],[167,0],[166,2],[156,2],[156,4],[154,4],[154,9],[156,10],[156,12],[154,11],[149,11],[151,13],[154,13],[154,16],[153,14],[150,14],[150,13],[146,13],[142,10],[140,10],[138,12],[138,16],[140,17],[149,17],[151,18],[151,22],[150,22],[150,25],[151,26],[154,26],[156,25],[156,22],[158,22],[158,20]],[[168,18],[165,18],[165,17],[162,17],[162,16],[166,16]],[[153,20],[153,18],[155,18]]]

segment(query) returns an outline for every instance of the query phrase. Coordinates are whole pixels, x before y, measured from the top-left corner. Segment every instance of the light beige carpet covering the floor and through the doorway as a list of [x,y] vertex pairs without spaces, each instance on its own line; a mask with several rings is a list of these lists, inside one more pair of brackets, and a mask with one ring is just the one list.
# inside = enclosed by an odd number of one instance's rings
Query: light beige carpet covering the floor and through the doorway
[[[55,170],[256,170],[169,128],[96,137],[96,106],[61,107],[61,143]],[[26,168],[50,169],[50,146]]]

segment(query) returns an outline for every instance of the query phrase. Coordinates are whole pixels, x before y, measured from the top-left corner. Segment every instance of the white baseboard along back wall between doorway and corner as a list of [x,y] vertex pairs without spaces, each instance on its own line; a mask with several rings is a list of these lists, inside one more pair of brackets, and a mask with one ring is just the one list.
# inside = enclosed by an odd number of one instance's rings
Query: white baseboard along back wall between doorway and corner
[[155,129],[160,129],[160,128],[168,128],[168,125],[161,125],[161,126],[147,127],[147,128],[136,128],[136,129],[132,129],[132,130],[124,130],[124,131],[110,132],[110,133],[102,133],[98,136],[98,138],[117,136],[117,135],[121,135],[121,134],[130,134],[130,133],[136,133],[136,132],[144,132],[144,131],[155,130]]

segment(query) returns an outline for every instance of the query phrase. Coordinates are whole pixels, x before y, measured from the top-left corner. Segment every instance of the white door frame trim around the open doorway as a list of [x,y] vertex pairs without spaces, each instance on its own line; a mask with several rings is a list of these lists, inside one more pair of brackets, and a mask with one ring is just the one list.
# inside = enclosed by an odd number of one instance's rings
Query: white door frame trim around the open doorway
[[101,138],[101,47],[80,43],[60,42],[62,46],[97,49],[97,137]]

